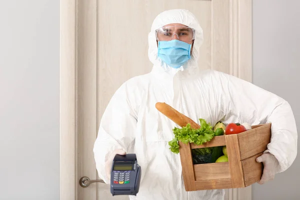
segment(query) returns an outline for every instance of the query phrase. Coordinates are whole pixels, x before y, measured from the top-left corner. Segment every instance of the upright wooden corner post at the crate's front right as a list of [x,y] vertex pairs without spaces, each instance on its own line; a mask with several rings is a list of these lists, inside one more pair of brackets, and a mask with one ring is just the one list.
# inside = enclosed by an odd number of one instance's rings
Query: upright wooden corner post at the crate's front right
[[232,188],[243,187],[244,177],[240,162],[237,134],[225,135]]

